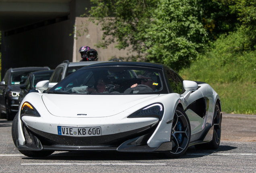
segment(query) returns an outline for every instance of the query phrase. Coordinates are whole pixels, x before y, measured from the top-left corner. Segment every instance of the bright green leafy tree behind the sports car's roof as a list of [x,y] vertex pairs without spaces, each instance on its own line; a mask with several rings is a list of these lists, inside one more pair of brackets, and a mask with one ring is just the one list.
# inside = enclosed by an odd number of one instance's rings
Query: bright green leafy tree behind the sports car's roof
[[147,58],[179,70],[205,48],[207,32],[197,0],[159,0],[147,29]]

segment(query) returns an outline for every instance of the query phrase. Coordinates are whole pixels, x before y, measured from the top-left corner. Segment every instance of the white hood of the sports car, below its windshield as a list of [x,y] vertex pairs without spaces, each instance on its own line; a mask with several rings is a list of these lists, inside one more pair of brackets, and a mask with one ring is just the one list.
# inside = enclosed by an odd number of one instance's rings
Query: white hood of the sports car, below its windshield
[[[158,95],[56,95],[42,96],[47,110],[58,117],[109,117]],[[136,111],[136,110],[134,110]]]

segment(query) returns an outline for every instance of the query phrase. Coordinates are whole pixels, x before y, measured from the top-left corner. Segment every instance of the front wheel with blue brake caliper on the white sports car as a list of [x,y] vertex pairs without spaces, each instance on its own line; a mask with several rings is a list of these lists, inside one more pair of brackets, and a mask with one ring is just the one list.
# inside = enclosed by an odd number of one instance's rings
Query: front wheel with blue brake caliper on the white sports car
[[191,127],[188,116],[180,107],[177,107],[172,122],[171,141],[172,150],[165,155],[171,158],[183,155],[190,143]]

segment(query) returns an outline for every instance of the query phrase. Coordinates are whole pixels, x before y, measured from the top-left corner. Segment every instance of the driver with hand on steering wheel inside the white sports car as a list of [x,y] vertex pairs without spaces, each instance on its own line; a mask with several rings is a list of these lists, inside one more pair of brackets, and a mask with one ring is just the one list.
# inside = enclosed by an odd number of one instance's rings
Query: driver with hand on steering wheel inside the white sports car
[[[153,89],[153,91],[158,91],[156,89],[157,86],[157,75],[154,72],[149,72],[146,71],[144,74],[142,75],[138,75],[138,78],[141,78],[141,84],[145,84],[147,86],[149,86],[151,89]],[[131,88],[133,87],[137,87],[138,84],[133,84],[131,86]]]

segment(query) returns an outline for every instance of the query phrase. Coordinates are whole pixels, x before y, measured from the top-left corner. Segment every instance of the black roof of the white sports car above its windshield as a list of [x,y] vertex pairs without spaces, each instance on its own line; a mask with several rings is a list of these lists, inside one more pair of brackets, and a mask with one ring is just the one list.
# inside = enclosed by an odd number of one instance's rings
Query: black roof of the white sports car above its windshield
[[117,61],[117,62],[107,62],[107,63],[99,63],[99,64],[92,64],[90,66],[86,66],[83,68],[91,68],[91,67],[101,67],[101,66],[138,66],[138,67],[147,67],[147,68],[158,68],[163,69],[163,64],[153,63],[153,62],[123,62],[123,61]]

